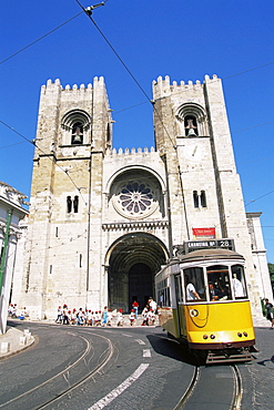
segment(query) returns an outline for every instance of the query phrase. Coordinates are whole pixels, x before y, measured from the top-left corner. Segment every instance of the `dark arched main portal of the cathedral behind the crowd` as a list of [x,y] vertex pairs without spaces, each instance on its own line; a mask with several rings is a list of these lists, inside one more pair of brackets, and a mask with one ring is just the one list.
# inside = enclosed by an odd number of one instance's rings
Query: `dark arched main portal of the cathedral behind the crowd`
[[169,258],[165,245],[145,233],[129,234],[109,250],[109,307],[129,311],[133,300],[140,308],[154,296],[154,276]]

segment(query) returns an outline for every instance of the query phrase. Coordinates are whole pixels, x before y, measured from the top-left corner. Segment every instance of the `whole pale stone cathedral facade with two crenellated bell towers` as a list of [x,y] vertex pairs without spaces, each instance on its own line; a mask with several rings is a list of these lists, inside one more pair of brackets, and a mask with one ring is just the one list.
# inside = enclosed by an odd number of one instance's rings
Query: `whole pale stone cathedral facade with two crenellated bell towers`
[[142,307],[176,246],[209,238],[234,239],[260,315],[267,274],[254,266],[221,80],[159,78],[153,106],[155,147],[115,151],[103,78],[88,86],[62,88],[59,80],[42,86],[23,259],[12,289],[31,317],[54,318],[63,304],[128,311],[138,299]]

